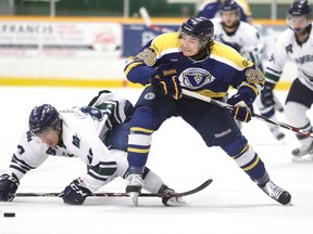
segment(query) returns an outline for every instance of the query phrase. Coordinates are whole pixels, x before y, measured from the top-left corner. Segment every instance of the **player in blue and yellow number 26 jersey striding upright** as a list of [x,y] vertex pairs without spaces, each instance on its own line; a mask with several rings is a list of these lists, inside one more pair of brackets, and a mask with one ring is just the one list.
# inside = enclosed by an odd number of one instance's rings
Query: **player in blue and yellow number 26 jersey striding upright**
[[[263,161],[235,122],[249,121],[253,116],[252,103],[263,88],[263,74],[234,49],[214,41],[213,35],[210,20],[193,16],[177,32],[156,37],[127,60],[127,79],[148,86],[130,121],[126,192],[138,203],[152,133],[167,118],[180,116],[209,147],[220,146],[270,197],[287,205],[291,195],[270,179]],[[181,89],[187,89],[222,101],[230,87],[238,90],[227,100],[236,106],[231,113],[181,95]]]

